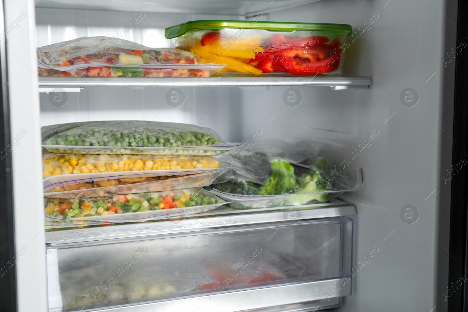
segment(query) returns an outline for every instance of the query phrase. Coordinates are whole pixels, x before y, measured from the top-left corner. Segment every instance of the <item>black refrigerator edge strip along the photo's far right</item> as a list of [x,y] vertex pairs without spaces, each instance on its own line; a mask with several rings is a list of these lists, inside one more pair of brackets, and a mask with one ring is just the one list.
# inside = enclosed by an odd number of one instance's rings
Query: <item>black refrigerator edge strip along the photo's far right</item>
[[[468,3],[458,1],[457,47],[468,43]],[[443,294],[448,311],[468,312],[468,53],[455,57],[455,96],[453,109],[452,190],[450,207],[450,246],[448,287]],[[461,167],[461,168],[460,168]],[[456,260],[455,260],[456,259]],[[439,294],[438,294],[439,295]]]

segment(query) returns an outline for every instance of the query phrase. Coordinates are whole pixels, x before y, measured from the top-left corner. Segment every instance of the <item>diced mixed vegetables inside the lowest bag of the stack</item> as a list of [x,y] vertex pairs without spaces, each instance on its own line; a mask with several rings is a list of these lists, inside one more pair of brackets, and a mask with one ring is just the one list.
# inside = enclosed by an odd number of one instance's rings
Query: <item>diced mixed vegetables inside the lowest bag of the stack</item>
[[45,214],[54,218],[82,218],[119,213],[184,208],[224,203],[201,188],[104,197],[45,200]]

